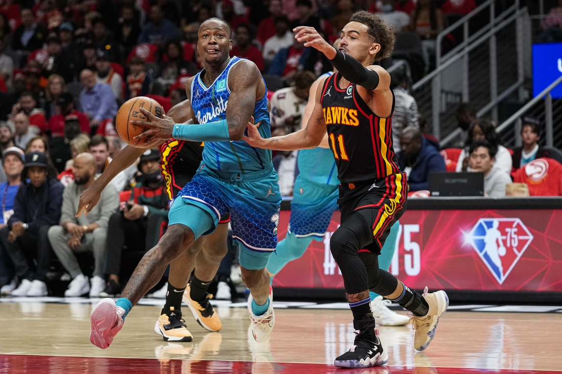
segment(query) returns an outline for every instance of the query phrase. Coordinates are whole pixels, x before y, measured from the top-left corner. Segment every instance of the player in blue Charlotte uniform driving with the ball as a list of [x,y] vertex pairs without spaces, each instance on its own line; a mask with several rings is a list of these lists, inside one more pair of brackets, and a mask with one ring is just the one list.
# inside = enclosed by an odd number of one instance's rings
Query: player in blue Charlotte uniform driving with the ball
[[117,303],[103,299],[92,311],[90,341],[99,348],[111,344],[126,314],[156,285],[167,264],[198,237],[211,234],[227,213],[240,247],[242,280],[252,295],[248,309],[253,337],[265,341],[273,330],[273,295],[265,266],[277,245],[281,195],[271,151],[242,140],[251,119],[259,123],[261,136],[271,135],[267,89],[253,62],[229,57],[230,34],[228,23],[215,18],[198,30],[197,51],[205,68],[187,83],[198,124],[175,124],[148,111],[143,113],[149,122],[132,121],[148,127],[135,137],[147,148],[170,138],[205,142],[205,148],[197,174],[171,202],[166,234],[143,256]]

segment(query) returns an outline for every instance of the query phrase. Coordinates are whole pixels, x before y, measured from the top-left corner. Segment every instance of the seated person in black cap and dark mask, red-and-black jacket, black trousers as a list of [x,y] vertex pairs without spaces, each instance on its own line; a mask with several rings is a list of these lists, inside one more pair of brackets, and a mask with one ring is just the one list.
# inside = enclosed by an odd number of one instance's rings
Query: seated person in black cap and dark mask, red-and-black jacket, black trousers
[[121,291],[119,273],[121,253],[125,244],[128,250],[143,251],[154,247],[167,223],[168,197],[160,174],[158,149],[149,149],[142,156],[135,176],[130,199],[123,211],[113,213],[109,220],[106,243],[105,273],[109,282],[101,297],[115,297]]

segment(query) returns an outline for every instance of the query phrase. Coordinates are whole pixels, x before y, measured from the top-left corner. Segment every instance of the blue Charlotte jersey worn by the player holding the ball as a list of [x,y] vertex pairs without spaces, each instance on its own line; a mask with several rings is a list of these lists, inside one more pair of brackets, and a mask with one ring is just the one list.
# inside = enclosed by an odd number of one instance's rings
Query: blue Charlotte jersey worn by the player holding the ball
[[[228,76],[230,69],[242,58],[233,57],[210,87],[206,87],[199,72],[191,85],[191,106],[200,124],[226,119],[226,106],[230,97]],[[262,78],[263,79],[263,78]],[[255,123],[261,121],[259,131],[263,138],[271,137],[269,125],[267,88],[264,97],[256,102],[252,113]],[[246,130],[247,131],[247,130]],[[247,134],[247,133],[246,133]],[[211,170],[246,173],[264,170],[271,163],[271,150],[251,147],[243,140],[236,142],[205,142],[203,163]]]

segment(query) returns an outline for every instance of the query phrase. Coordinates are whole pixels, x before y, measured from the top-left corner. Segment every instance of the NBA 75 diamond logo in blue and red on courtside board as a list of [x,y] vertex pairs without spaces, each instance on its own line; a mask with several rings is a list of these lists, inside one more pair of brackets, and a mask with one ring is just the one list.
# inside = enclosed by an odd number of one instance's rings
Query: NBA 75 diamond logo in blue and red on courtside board
[[519,218],[481,218],[470,231],[470,244],[500,284],[532,240]]

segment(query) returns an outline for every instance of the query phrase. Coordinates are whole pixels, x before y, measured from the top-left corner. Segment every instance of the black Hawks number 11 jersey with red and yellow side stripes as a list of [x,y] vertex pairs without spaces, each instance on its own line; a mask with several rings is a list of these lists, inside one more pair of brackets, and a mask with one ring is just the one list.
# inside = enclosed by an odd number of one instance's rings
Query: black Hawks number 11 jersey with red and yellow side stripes
[[394,97],[391,115],[378,117],[357,93],[355,84],[338,88],[340,77],[338,73],[328,77],[320,99],[339,181],[361,185],[399,173],[392,146]]

